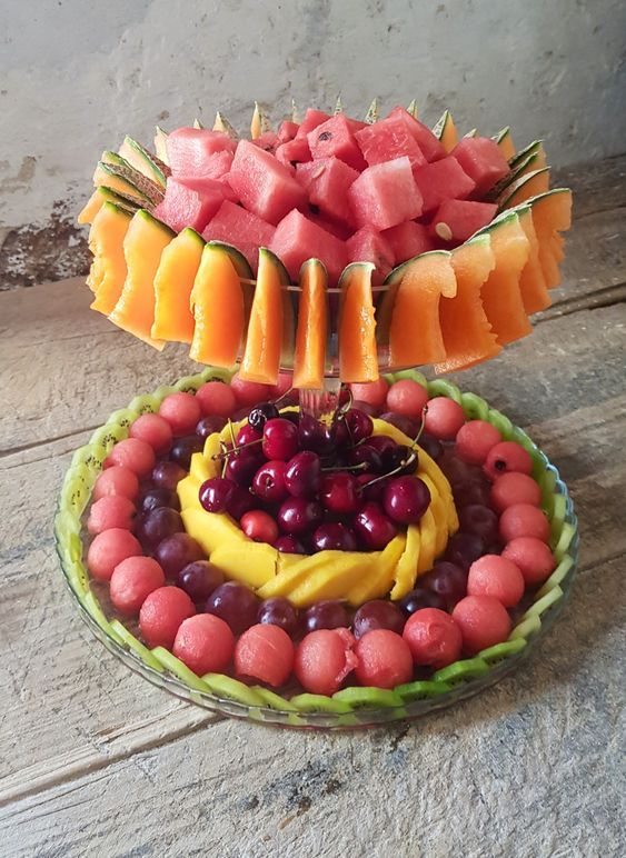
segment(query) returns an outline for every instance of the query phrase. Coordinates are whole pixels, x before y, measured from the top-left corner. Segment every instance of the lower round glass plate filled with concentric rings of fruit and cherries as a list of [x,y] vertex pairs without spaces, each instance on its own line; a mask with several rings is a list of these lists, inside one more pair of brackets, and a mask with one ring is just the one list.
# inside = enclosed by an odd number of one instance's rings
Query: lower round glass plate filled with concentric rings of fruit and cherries
[[89,627],[179,697],[289,727],[414,718],[513,670],[574,578],[556,468],[417,371],[352,386],[330,441],[286,387],[207,368],[76,451],[56,536]]

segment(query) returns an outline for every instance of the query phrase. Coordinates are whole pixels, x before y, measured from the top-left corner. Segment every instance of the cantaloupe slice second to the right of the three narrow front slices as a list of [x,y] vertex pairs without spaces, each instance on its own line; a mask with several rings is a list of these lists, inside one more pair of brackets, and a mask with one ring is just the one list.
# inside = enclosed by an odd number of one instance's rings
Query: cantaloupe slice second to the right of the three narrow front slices
[[451,372],[493,358],[500,351],[480,299],[483,283],[496,265],[489,233],[477,236],[453,250],[451,265],[457,281],[454,298],[441,298],[439,323],[446,359],[437,372]]

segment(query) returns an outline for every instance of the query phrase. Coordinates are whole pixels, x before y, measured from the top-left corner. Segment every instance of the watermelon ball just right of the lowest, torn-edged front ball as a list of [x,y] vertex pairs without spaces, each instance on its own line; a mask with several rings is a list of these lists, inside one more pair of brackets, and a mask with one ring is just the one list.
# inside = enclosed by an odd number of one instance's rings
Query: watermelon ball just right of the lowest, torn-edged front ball
[[413,656],[407,641],[396,631],[374,629],[355,647],[355,672],[364,686],[395,688],[413,679]]

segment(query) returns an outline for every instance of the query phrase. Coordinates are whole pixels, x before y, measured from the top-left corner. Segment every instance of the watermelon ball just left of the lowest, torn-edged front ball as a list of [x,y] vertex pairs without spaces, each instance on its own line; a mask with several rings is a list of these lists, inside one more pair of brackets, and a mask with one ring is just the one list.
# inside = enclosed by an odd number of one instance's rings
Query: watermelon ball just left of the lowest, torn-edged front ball
[[278,688],[294,667],[294,644],[279,626],[259,622],[247,629],[235,647],[235,671]]

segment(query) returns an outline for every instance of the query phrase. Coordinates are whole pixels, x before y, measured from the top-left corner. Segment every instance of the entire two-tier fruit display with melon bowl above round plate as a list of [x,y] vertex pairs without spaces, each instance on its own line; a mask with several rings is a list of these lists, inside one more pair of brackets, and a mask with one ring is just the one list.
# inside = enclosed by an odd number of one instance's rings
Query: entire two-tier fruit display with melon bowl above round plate
[[338,102],[153,150],[97,166],[91,306],[203,369],[72,458],[56,537],[82,617],[151,682],[267,724],[494,684],[570,591],[576,518],[528,435],[440,376],[527,336],[559,283],[572,194],[541,142]]

